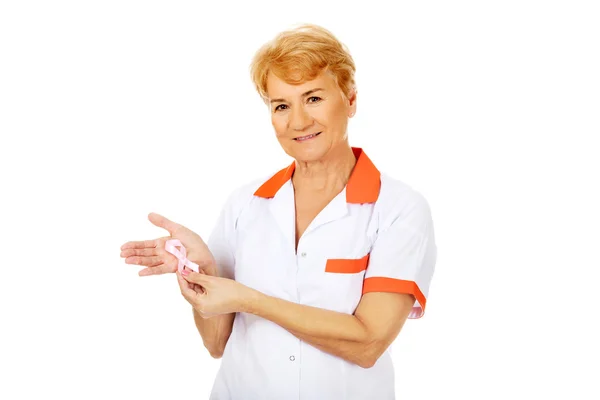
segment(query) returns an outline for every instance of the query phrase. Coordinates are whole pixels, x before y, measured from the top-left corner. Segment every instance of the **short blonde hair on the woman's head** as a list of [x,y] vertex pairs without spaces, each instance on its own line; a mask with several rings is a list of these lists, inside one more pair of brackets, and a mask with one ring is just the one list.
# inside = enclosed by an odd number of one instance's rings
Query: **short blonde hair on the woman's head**
[[324,70],[333,75],[349,98],[355,89],[354,60],[331,32],[313,24],[281,32],[256,52],[250,65],[252,82],[265,102],[269,72],[296,85],[315,79]]

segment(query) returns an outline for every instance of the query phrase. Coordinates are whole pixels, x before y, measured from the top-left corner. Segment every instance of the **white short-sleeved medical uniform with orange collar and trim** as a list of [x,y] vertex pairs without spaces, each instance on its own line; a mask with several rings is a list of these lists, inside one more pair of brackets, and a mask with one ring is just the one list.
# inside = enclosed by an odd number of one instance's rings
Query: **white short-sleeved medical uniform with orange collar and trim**
[[[425,198],[381,174],[360,148],[350,179],[311,222],[295,250],[295,163],[238,188],[208,246],[222,276],[262,293],[353,314],[368,292],[410,293],[409,318],[425,310],[437,257]],[[389,350],[362,368],[281,326],[238,313],[212,400],[394,399]]]

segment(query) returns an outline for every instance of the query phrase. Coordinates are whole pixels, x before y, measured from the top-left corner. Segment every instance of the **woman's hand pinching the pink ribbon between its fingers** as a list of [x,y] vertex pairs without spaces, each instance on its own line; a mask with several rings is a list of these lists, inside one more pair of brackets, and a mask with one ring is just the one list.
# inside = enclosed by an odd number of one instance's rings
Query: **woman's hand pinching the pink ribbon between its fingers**
[[177,271],[181,294],[203,318],[244,311],[255,290],[233,279]]

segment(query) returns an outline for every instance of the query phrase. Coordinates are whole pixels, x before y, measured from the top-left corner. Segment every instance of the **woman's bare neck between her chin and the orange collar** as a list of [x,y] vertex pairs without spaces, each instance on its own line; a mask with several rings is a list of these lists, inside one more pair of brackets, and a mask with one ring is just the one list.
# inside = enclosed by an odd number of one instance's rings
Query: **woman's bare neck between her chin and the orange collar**
[[356,157],[348,144],[337,146],[318,161],[296,161],[292,184],[311,192],[341,191],[348,183]]

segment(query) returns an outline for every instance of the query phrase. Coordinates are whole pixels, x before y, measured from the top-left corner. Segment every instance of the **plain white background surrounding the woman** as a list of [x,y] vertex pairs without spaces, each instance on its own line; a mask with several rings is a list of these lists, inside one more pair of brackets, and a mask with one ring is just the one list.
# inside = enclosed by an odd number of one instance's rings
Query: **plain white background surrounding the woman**
[[596,2],[200,3],[0,3],[0,398],[208,398],[175,276],[119,248],[290,163],[248,68],[303,22],[356,61],[351,144],[432,209],[398,397],[600,398]]

